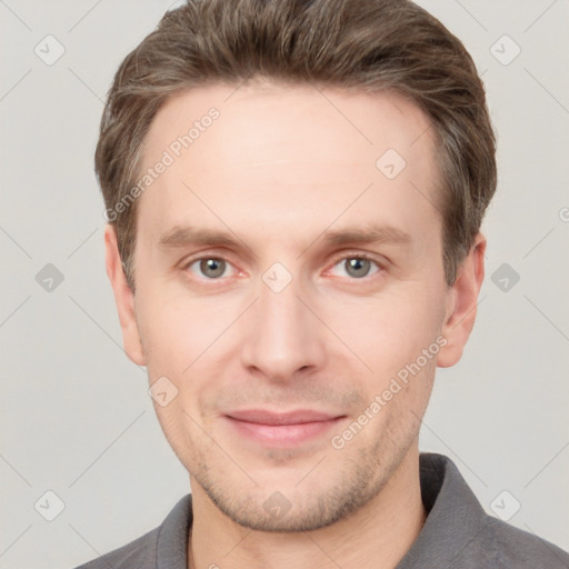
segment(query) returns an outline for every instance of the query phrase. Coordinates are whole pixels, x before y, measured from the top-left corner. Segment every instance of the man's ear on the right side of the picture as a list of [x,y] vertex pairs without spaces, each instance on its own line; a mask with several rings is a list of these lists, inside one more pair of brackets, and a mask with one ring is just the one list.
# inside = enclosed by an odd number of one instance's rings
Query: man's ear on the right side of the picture
[[457,279],[447,292],[447,310],[441,333],[447,345],[439,351],[437,366],[455,366],[475,326],[478,295],[485,279],[486,238],[478,233],[460,264]]

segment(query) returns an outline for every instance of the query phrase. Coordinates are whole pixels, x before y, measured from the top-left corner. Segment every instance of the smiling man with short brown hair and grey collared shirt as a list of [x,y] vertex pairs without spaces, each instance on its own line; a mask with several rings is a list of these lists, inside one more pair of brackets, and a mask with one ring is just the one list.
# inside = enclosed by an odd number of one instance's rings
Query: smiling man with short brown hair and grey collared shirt
[[558,568],[420,455],[496,189],[463,46],[406,0],[190,0],[97,149],[124,348],[191,497],[86,569]]

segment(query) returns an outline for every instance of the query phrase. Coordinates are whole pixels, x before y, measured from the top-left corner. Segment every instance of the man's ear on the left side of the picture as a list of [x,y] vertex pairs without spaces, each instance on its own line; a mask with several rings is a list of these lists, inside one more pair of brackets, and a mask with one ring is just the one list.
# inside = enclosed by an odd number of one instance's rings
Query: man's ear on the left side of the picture
[[146,366],[146,358],[134,316],[134,295],[127,283],[127,277],[122,270],[122,261],[117,246],[117,232],[110,223],[104,229],[104,252],[107,274],[114,292],[114,302],[117,303],[120,327],[122,328],[124,352],[134,363]]

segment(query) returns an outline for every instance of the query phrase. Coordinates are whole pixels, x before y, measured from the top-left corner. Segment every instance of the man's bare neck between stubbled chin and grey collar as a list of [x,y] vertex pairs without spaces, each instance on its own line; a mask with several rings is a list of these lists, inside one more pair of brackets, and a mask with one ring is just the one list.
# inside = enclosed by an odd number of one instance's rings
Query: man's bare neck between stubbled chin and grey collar
[[243,528],[221,513],[201,487],[191,481],[189,569],[392,569],[426,520],[417,442],[378,496],[349,518],[313,531],[278,533]]

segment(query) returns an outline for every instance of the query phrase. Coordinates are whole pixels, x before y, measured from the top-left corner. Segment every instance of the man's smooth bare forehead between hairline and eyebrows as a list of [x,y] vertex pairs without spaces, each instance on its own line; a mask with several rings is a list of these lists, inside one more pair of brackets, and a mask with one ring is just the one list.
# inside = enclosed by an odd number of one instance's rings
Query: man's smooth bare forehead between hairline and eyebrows
[[211,227],[244,216],[277,237],[287,221],[322,227],[342,210],[372,218],[381,208],[410,226],[432,218],[437,200],[429,120],[386,92],[276,83],[189,90],[151,124],[142,172],[159,162],[168,166],[139,204],[152,232],[196,216]]

